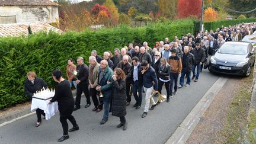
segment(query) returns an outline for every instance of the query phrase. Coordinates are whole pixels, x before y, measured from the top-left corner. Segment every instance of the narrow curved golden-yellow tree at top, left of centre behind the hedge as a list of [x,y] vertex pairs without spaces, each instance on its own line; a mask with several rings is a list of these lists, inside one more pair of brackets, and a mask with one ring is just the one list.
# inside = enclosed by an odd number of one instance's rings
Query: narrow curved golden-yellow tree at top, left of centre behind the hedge
[[111,20],[113,21],[113,24],[117,25],[119,23],[119,12],[114,2],[112,0],[106,0],[103,5],[110,12]]

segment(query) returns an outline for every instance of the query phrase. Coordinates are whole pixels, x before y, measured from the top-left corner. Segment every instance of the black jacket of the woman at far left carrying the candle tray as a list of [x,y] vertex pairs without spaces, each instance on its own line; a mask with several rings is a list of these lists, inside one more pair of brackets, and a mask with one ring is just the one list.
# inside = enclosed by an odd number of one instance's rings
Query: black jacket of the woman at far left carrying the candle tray
[[25,94],[28,95],[30,100],[32,100],[32,96],[34,95],[34,93],[36,91],[40,91],[43,87],[47,88],[47,84],[41,78],[36,77],[34,79],[34,84],[28,79],[26,79],[24,82],[24,91]]

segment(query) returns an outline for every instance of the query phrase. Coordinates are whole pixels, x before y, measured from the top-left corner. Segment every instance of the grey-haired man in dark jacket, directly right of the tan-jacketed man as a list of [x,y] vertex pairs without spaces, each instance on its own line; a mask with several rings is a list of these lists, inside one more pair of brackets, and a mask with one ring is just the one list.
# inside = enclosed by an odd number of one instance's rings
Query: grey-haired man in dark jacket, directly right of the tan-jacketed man
[[184,46],[184,53],[181,55],[181,62],[183,65],[183,69],[181,70],[180,85],[178,85],[178,88],[183,87],[185,75],[187,75],[187,82],[185,84],[185,87],[188,87],[190,85],[190,74],[192,66],[195,63],[195,59],[194,55],[189,52],[188,46]]

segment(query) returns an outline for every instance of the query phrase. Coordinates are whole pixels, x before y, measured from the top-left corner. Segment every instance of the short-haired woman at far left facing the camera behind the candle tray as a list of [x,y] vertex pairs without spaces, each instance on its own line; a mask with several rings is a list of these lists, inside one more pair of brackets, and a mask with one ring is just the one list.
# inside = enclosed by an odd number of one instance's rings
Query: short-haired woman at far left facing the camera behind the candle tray
[[[47,84],[43,81],[41,78],[37,78],[36,72],[28,72],[27,73],[27,79],[24,82],[24,88],[25,88],[25,94],[30,97],[30,101],[32,101],[32,97],[36,91],[40,91],[43,89],[43,87],[46,89]],[[36,110],[37,114],[37,123],[36,127],[40,126],[41,124],[41,115],[45,116],[45,113],[40,108],[37,108]]]

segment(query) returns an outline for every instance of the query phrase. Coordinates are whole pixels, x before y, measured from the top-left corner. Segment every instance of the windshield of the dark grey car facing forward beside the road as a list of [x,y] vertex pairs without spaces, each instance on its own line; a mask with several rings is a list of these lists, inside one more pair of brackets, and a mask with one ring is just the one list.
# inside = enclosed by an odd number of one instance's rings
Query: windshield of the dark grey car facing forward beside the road
[[218,53],[231,55],[247,55],[247,46],[235,44],[223,44]]

